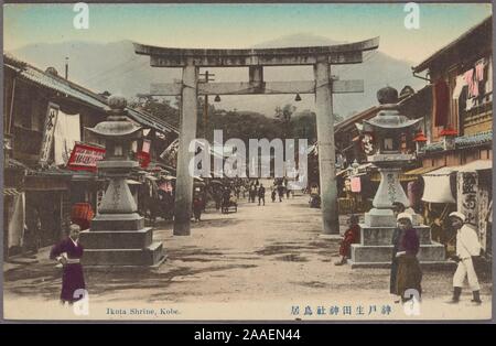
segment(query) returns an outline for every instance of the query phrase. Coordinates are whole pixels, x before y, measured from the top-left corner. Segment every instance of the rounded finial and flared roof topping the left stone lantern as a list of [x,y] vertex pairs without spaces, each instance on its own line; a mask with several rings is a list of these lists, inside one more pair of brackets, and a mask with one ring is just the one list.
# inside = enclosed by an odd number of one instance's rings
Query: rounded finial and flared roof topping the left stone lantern
[[97,123],[94,128],[87,128],[88,131],[99,137],[133,137],[142,128],[129,121],[127,117],[126,98],[122,96],[110,96],[108,99],[109,110],[107,120]]

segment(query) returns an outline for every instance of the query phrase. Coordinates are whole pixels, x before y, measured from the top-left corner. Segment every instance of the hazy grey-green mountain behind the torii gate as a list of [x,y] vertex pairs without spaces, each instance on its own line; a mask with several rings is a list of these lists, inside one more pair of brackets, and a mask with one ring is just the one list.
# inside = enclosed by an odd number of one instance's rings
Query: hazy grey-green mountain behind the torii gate
[[[259,43],[260,47],[315,46],[344,42],[311,34],[294,34]],[[380,44],[379,44],[380,47]],[[134,54],[131,41],[94,43],[69,41],[63,43],[37,43],[9,52],[34,66],[45,69],[55,67],[64,73],[65,57],[69,57],[69,79],[101,93],[121,94],[134,97],[149,93],[150,83],[171,83],[181,78],[179,68],[150,67],[149,57]],[[412,77],[411,63],[395,60],[380,51],[366,52],[364,63],[332,66],[332,74],[339,79],[364,79],[365,93],[335,95],[334,111],[344,117],[377,104],[377,89],[389,85],[399,90],[406,85],[418,89],[424,82]],[[203,72],[203,69],[202,69]],[[216,82],[239,82],[248,79],[248,68],[208,68]],[[266,80],[304,80],[313,78],[311,66],[266,67]],[[298,110],[314,109],[313,95],[301,95],[295,102],[294,95],[270,96],[222,96],[217,108],[251,110],[272,117],[277,106],[293,104]],[[212,100],[211,100],[212,101]]]

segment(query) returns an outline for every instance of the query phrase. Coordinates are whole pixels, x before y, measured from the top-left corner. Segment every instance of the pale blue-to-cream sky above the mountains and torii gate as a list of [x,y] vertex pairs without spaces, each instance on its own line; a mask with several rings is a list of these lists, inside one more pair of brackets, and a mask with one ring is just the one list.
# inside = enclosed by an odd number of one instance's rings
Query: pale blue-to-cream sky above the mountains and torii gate
[[490,3],[420,6],[420,28],[403,25],[405,4],[89,4],[76,30],[72,4],[6,4],[4,51],[32,43],[131,40],[174,47],[250,47],[305,33],[334,41],[380,36],[379,51],[413,64],[492,14]]

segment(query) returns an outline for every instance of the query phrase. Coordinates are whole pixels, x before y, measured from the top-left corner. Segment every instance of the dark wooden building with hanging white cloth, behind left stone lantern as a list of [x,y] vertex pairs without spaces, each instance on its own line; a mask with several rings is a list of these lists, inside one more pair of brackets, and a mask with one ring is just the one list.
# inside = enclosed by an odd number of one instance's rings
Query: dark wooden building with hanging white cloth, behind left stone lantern
[[[58,76],[53,67],[42,71],[6,54],[3,62],[3,196],[12,216],[3,219],[7,258],[58,240],[75,203],[95,207],[98,175],[71,171],[67,161],[75,143],[101,144],[85,128],[106,119],[107,98]],[[150,159],[160,161],[177,130],[152,115],[127,110],[145,129]],[[141,148],[142,141],[136,150]]]

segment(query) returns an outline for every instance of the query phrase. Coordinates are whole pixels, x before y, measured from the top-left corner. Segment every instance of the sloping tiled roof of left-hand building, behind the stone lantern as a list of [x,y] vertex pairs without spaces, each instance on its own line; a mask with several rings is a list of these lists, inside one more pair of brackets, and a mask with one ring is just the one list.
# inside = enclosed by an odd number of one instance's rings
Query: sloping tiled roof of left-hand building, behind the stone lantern
[[[30,80],[37,85],[42,85],[48,89],[62,93],[65,96],[76,98],[78,100],[84,101],[87,105],[100,109],[107,109],[107,99],[101,95],[98,95],[89,89],[86,89],[60,76],[45,73],[34,66],[31,66],[24,62],[17,60],[13,56],[4,54],[3,61],[7,67],[17,71],[18,74],[26,80]],[[174,128],[173,126],[169,125],[166,121],[158,117],[154,117],[143,111],[136,110],[130,107],[128,107],[127,110],[129,117],[132,118],[134,121],[139,122],[140,125],[153,128],[161,132],[179,133],[176,128]]]

